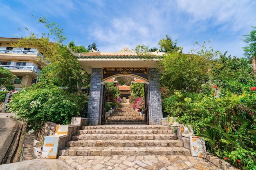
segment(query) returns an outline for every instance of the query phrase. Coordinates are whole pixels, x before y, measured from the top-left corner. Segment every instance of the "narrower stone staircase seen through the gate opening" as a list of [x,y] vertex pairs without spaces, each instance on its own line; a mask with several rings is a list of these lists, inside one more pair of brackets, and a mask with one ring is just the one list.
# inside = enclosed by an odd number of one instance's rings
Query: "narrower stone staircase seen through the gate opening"
[[105,124],[145,124],[145,119],[132,108],[130,103],[121,103],[119,108],[106,118]]

